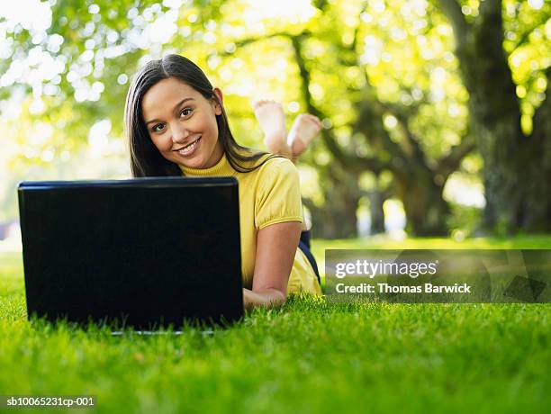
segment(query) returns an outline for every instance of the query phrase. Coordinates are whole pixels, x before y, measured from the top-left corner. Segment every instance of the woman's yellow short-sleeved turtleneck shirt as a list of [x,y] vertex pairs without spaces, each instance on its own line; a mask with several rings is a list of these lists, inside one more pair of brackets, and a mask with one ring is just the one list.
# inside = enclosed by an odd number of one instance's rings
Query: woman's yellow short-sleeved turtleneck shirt
[[[264,158],[261,158],[264,159]],[[257,163],[261,161],[258,160]],[[254,164],[248,163],[247,166]],[[241,236],[241,273],[243,286],[251,289],[257,255],[257,231],[285,221],[303,222],[299,175],[291,161],[283,157],[269,159],[249,173],[234,170],[226,155],[215,166],[194,169],[180,166],[186,176],[234,176],[239,183],[239,227]],[[321,294],[310,262],[297,247],[289,276],[287,293],[305,291]]]

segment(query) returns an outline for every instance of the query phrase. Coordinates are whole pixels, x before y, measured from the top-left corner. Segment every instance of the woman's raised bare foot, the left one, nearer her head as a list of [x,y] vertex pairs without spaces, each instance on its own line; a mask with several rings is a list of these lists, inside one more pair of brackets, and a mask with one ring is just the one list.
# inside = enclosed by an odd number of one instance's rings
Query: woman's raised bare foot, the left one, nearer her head
[[274,154],[291,157],[291,148],[285,141],[285,113],[281,103],[276,101],[257,101],[253,103],[255,116],[264,131],[264,143]]

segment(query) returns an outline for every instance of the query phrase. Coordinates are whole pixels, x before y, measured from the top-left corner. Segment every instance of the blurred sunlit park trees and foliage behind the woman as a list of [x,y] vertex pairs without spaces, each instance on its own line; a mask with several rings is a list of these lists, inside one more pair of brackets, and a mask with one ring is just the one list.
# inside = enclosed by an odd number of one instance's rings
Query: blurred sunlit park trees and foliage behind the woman
[[551,233],[551,3],[18,0],[0,3],[0,240],[23,180],[130,174],[131,76],[182,54],[225,94],[324,129],[299,164],[315,238]]

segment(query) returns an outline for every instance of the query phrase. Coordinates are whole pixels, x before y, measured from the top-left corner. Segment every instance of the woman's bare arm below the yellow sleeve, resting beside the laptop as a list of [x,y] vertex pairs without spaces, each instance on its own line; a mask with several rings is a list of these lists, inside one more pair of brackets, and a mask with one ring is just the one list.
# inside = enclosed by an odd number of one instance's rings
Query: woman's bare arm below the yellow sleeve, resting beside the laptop
[[252,291],[243,289],[245,308],[277,306],[287,300],[287,283],[303,224],[272,224],[257,233],[257,257]]

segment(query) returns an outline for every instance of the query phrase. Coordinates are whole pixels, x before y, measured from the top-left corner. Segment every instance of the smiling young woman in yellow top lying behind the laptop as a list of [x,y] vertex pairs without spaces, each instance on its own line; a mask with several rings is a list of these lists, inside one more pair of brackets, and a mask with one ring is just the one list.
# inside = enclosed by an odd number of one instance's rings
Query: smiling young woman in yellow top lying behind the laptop
[[240,146],[222,102],[221,90],[187,58],[168,55],[142,67],[132,78],[125,107],[132,175],[235,176],[245,307],[278,305],[287,293],[320,294],[307,234],[300,240],[303,213],[294,164]]

